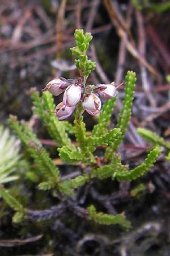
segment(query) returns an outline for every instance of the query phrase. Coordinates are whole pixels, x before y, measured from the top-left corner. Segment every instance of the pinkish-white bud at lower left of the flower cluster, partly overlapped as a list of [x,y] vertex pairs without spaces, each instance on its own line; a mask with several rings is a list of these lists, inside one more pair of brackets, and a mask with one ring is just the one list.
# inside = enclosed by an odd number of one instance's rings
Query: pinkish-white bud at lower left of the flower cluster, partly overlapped
[[68,106],[65,106],[63,102],[60,102],[56,106],[55,115],[59,120],[63,120],[63,119],[66,119],[67,117],[70,117],[70,115],[74,112],[74,109],[75,109],[75,106],[68,107]]

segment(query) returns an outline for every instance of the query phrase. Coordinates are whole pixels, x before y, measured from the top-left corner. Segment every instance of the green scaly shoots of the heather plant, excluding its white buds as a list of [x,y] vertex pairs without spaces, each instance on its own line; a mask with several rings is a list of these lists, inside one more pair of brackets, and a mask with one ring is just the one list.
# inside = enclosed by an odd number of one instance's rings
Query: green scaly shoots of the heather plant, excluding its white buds
[[[84,88],[87,88],[88,93],[91,93],[92,86],[86,87],[85,83],[88,75],[95,68],[95,63],[88,60],[86,55],[91,39],[92,36],[90,33],[84,34],[83,30],[76,30],[76,47],[71,48],[73,55],[78,57],[75,62],[80,73],[80,78],[76,81],[79,82],[81,80]],[[58,86],[58,84],[55,86]],[[103,180],[110,177],[112,180],[126,181],[134,180],[144,175],[153,166],[161,153],[158,146],[150,151],[145,162],[135,167],[133,170],[129,170],[127,165],[121,163],[121,155],[116,152],[124,138],[131,117],[134,88],[135,73],[128,71],[125,78],[125,97],[122,109],[118,115],[117,126],[114,129],[109,129],[111,115],[116,102],[116,97],[114,97],[111,100],[107,100],[103,105],[98,123],[94,126],[92,132],[86,130],[86,124],[83,121],[83,100],[80,100],[76,105],[75,119],[72,125],[67,121],[59,121],[54,115],[55,105],[52,94],[43,92],[42,96],[40,96],[37,90],[32,89],[33,112],[39,115],[50,137],[57,143],[59,157],[66,164],[76,164],[82,172],[78,176],[73,174],[73,178],[69,178],[67,175],[63,177],[59,168],[54,164],[53,159],[50,158],[49,152],[42,147],[40,140],[37,138],[36,134],[33,133],[28,124],[26,122],[19,122],[16,117],[11,116],[10,125],[12,129],[16,135],[18,135],[25,150],[27,150],[36,164],[36,175],[34,176],[32,173],[28,173],[28,176],[31,175],[30,180],[40,182],[38,188],[41,190],[45,191],[51,189],[53,192],[52,195],[57,196],[58,199],[62,201],[63,205],[66,204],[66,207],[68,207],[70,202],[74,203],[75,199],[70,199],[70,197],[75,195],[76,189],[84,184],[90,183],[91,180]],[[84,90],[84,93],[86,94],[86,90]],[[70,134],[72,138],[75,138],[74,143],[72,143],[69,138]],[[98,147],[102,147],[103,151],[105,150],[105,158],[97,155]],[[40,179],[39,174],[41,174]],[[29,214],[33,212],[32,210],[23,210],[22,205],[9,195],[5,189],[1,189],[1,195],[7,203],[16,210],[14,215],[15,222],[23,220],[25,217],[24,212],[29,212]],[[76,205],[76,209],[79,208],[80,207]],[[53,210],[44,211],[46,218],[49,218],[51,212],[53,212]],[[36,216],[40,214],[40,218],[38,219],[41,219],[41,213],[39,211],[35,212]],[[84,209],[84,212],[87,213],[87,210]],[[130,222],[125,219],[123,213],[116,216],[101,212],[97,213],[93,205],[88,208],[88,212],[89,218],[99,224],[120,224],[126,229],[130,228]]]

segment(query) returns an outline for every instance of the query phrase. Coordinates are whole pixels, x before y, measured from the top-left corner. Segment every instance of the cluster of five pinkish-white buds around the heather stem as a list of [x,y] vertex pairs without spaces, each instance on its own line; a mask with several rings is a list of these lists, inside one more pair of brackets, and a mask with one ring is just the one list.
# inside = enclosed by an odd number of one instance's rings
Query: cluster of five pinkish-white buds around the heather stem
[[63,94],[63,101],[56,106],[55,114],[59,120],[66,119],[75,110],[76,104],[81,100],[83,108],[90,115],[96,115],[101,110],[99,97],[109,99],[116,97],[117,90],[114,82],[111,84],[97,84],[85,86],[81,80],[66,80],[55,78],[48,82],[42,92],[48,90],[54,96]]

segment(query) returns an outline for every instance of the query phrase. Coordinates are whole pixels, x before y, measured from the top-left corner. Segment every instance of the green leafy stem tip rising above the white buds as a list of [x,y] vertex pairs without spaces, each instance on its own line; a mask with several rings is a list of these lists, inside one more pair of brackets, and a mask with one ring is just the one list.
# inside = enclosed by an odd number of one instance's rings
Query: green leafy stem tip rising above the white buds
[[75,60],[76,68],[80,73],[80,77],[83,77],[84,82],[86,82],[91,71],[96,67],[95,61],[88,60],[86,55],[89,43],[92,40],[91,33],[85,33],[83,30],[75,30],[75,44],[76,46],[70,48],[72,54],[77,56],[78,59]]

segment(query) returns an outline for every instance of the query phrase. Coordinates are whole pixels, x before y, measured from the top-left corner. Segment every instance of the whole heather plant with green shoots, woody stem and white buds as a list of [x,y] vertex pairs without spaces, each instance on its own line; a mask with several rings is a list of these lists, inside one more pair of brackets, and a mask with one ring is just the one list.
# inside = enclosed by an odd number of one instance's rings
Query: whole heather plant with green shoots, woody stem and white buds
[[[48,82],[42,95],[35,88],[31,90],[33,101],[33,113],[39,115],[44,122],[50,137],[57,143],[59,158],[65,164],[79,167],[79,172],[63,176],[49,152],[42,146],[40,140],[26,122],[19,122],[14,116],[10,117],[10,125],[20,138],[28,154],[37,165],[37,174],[41,174],[40,190],[50,190],[52,195],[58,197],[61,203],[44,210],[30,210],[14,199],[10,193],[2,188],[3,199],[16,213],[15,222],[24,219],[32,221],[48,220],[61,216],[70,209],[80,217],[95,221],[99,224],[119,224],[129,229],[130,222],[125,214],[116,215],[97,212],[95,205],[83,208],[76,200],[76,191],[85,184],[91,184],[93,180],[116,179],[118,181],[131,181],[143,176],[155,163],[162,150],[159,146],[153,147],[148,152],[145,161],[139,166],[129,169],[121,163],[121,156],[117,154],[118,148],[124,139],[126,129],[131,117],[131,105],[135,88],[135,73],[128,71],[125,77],[125,97],[122,109],[118,115],[117,125],[109,129],[113,108],[116,103],[118,85],[111,84],[87,84],[88,76],[95,69],[95,62],[87,57],[87,49],[92,35],[83,30],[75,30],[75,44],[71,48],[75,59],[76,68],[79,71],[77,79],[54,78]],[[63,93],[63,100],[57,106],[54,105],[54,97]],[[101,98],[105,100],[102,106]],[[97,116],[97,123],[92,131],[86,130],[83,121],[83,113]],[[73,124],[64,120],[74,115]],[[70,135],[72,141],[70,139]],[[74,143],[74,139],[75,142]],[[104,155],[97,155],[96,149],[103,147]]]

